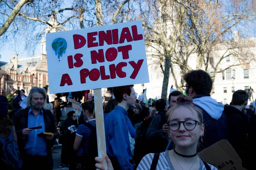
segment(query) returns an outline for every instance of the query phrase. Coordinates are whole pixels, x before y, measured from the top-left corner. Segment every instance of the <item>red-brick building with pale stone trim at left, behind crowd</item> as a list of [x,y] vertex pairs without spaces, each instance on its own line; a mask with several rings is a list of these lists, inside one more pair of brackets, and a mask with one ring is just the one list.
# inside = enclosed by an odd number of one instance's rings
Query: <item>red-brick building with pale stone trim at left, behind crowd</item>
[[0,94],[9,94],[12,88],[24,89],[27,94],[32,87],[45,85],[48,85],[46,54],[20,59],[13,54],[9,62],[0,62]]

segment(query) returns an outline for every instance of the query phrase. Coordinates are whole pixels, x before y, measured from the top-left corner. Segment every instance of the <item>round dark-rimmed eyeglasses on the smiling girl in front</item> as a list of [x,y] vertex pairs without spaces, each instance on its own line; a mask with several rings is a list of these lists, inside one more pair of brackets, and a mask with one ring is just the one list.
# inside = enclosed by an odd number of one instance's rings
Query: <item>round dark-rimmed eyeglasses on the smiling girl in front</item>
[[170,121],[167,122],[167,125],[169,127],[170,130],[172,131],[176,131],[180,128],[180,124],[183,123],[184,127],[186,128],[186,130],[193,130],[195,129],[197,123],[199,125],[201,125],[198,121],[196,120],[185,120],[185,121]]

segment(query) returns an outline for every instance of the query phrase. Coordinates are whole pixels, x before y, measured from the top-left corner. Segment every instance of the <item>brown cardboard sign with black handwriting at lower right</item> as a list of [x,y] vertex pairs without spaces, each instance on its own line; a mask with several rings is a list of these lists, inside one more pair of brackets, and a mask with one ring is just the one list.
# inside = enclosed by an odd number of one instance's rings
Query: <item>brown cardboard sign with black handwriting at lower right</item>
[[218,170],[246,170],[242,160],[227,140],[221,140],[198,153],[203,161],[214,165]]

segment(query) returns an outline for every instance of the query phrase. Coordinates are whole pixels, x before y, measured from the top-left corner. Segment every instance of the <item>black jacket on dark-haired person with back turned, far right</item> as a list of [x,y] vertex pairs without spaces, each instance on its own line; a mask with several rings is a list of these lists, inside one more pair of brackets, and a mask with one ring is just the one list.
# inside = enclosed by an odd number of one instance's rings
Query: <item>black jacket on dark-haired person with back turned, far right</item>
[[224,112],[227,116],[229,142],[242,159],[242,162],[244,162],[244,154],[247,153],[248,146],[247,117],[233,106],[225,106]]

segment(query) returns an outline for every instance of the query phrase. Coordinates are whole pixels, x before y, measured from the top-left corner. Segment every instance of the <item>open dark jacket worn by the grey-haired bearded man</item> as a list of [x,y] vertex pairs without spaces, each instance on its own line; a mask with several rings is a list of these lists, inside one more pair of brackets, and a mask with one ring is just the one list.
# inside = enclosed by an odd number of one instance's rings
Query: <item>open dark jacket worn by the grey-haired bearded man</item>
[[[45,132],[51,132],[54,134],[54,137],[51,141],[47,140],[47,150],[48,150],[48,156],[49,156],[49,162],[51,169],[53,168],[53,159],[52,159],[52,146],[55,142],[55,139],[57,138],[57,130],[55,127],[55,121],[54,117],[52,115],[52,112],[49,110],[43,110],[43,115],[44,115],[44,124],[45,124]],[[20,150],[21,155],[24,154],[24,148],[25,148],[25,142],[28,140],[28,136],[24,137],[21,133],[22,130],[28,127],[28,114],[29,114],[29,108],[26,108],[21,111],[17,111],[14,116],[12,117],[12,122],[15,126],[15,131],[17,134],[17,140],[18,142],[18,147]]]

